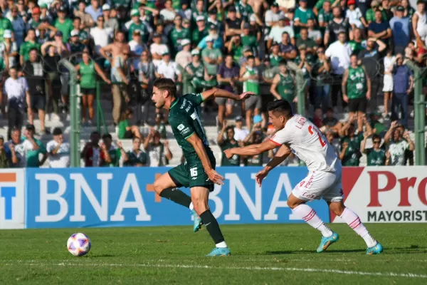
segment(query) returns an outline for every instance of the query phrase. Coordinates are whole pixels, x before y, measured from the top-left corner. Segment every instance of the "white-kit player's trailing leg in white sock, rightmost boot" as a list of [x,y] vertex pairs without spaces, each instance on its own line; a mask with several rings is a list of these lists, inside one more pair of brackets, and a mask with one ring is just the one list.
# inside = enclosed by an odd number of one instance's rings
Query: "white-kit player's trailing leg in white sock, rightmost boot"
[[364,239],[368,247],[367,254],[380,254],[383,251],[381,244],[379,244],[379,242],[369,234],[368,229],[360,221],[359,216],[351,209],[344,206],[344,202],[342,202],[342,195],[337,197],[335,200],[332,198],[332,201],[327,202],[327,204],[334,214],[343,219],[344,222],[354,230],[354,232]]

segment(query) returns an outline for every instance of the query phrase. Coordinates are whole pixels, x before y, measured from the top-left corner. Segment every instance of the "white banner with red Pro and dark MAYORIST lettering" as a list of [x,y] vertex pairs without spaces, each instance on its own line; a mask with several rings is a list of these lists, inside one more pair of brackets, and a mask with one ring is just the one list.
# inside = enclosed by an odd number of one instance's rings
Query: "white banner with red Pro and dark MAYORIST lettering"
[[342,175],[344,203],[362,222],[427,222],[426,185],[426,166],[345,167]]

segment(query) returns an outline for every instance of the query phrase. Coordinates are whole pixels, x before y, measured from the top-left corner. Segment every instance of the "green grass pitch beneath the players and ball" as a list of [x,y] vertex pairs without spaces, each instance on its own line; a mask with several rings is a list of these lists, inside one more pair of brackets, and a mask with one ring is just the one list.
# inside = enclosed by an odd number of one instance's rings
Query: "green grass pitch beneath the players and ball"
[[[425,224],[368,224],[384,254],[365,255],[346,224],[340,240],[317,254],[320,233],[307,224],[223,226],[231,257],[204,257],[206,229],[134,227],[0,231],[0,284],[427,284]],[[73,257],[75,232],[92,249]],[[413,274],[413,275],[411,275]]]

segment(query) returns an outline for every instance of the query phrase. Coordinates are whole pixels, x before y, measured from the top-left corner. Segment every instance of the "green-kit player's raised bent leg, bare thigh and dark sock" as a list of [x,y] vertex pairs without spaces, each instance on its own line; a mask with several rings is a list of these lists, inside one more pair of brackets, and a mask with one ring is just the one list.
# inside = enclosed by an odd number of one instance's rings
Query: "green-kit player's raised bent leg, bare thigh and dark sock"
[[[178,165],[177,167],[180,167],[180,166],[181,165]],[[170,171],[172,172],[172,170]],[[156,181],[154,181],[154,191],[160,197],[169,199],[172,202],[175,202],[176,204],[180,204],[184,207],[189,208],[191,204],[191,197],[189,197],[189,195],[186,195],[181,190],[176,189],[176,187],[180,187],[180,186],[182,185],[177,185],[174,182],[171,175],[169,175],[169,172],[164,173],[162,176],[157,178]]]

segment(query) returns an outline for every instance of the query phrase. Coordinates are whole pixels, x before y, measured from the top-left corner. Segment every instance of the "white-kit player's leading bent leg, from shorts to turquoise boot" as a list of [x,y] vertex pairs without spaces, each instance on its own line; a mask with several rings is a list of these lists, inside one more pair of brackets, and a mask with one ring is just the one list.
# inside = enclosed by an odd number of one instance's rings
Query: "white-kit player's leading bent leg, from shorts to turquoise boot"
[[292,194],[288,198],[288,206],[292,209],[292,212],[322,234],[322,240],[317,248],[317,252],[324,251],[339,239],[338,234],[333,232],[317,216],[316,211],[305,204],[314,199],[320,199],[322,193],[325,190],[329,190],[331,185],[335,184],[334,177],[328,177],[328,175],[330,175],[328,172],[309,172],[307,177],[292,190]]

